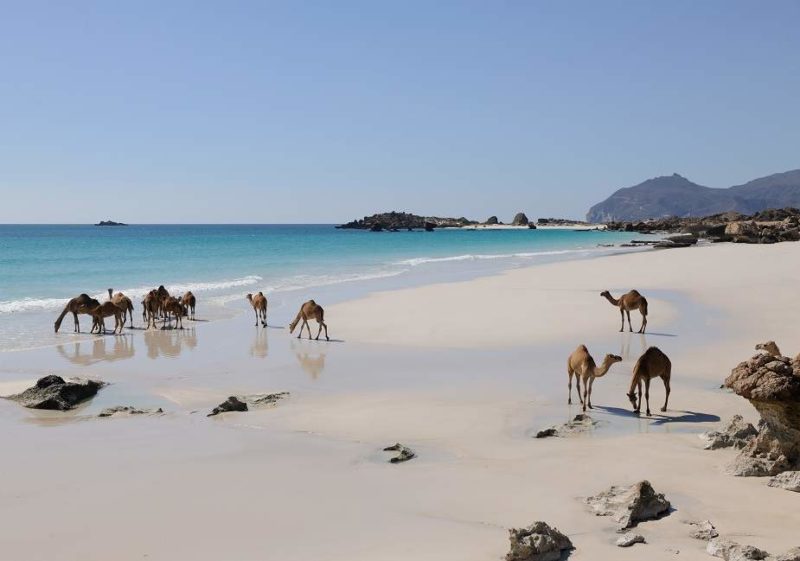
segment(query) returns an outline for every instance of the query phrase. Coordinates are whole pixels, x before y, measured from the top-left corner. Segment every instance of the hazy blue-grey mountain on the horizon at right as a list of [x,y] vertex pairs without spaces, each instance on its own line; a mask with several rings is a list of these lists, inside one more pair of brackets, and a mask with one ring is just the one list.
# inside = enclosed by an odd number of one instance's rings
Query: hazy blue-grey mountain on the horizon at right
[[586,214],[589,222],[635,221],[664,216],[708,216],[728,211],[753,214],[767,208],[800,207],[800,169],[714,189],[677,173],[618,190]]

